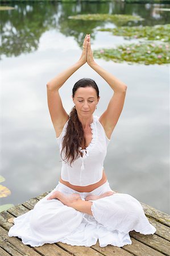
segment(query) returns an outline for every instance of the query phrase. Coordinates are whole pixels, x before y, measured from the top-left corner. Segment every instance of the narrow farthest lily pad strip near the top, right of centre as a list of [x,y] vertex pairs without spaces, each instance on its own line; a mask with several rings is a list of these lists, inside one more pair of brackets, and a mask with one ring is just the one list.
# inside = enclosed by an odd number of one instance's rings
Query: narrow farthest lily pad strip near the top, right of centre
[[126,14],[78,14],[69,16],[69,19],[81,19],[81,20],[103,20],[112,21],[114,23],[126,24],[128,21],[144,20],[139,15],[126,15]]

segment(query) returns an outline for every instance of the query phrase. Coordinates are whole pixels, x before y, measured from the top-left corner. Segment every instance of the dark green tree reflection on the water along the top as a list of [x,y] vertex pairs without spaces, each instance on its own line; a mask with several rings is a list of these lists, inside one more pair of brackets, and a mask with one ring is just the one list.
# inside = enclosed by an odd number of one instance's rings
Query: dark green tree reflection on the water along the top
[[[2,4],[1,4],[2,5]],[[28,2],[12,3],[14,10],[1,11],[1,53],[18,56],[38,49],[39,39],[45,31],[56,28],[65,36],[74,36],[78,46],[82,46],[85,34],[94,39],[97,27],[104,27],[101,20],[72,20],[68,16],[77,14],[135,14],[145,20],[137,22],[152,26],[168,23],[168,12],[161,12],[159,20],[152,15],[154,5],[138,5],[115,2]],[[164,5],[164,8],[166,5]],[[168,5],[167,5],[168,7]],[[128,26],[134,23],[128,22]]]

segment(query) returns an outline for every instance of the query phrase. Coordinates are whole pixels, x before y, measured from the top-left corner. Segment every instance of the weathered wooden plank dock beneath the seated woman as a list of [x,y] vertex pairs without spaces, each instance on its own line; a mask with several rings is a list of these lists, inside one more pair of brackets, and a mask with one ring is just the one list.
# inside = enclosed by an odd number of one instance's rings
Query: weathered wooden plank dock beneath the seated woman
[[[51,192],[51,191],[49,191]],[[45,243],[43,246],[31,247],[24,245],[20,238],[7,235],[13,225],[13,218],[34,208],[34,205],[46,196],[45,192],[23,204],[15,205],[0,213],[0,256],[161,256],[170,255],[170,216],[149,205],[142,204],[144,213],[150,223],[155,226],[156,233],[143,235],[135,231],[130,232],[131,245],[117,247],[107,245],[99,247],[99,243],[91,247],[71,246],[66,243]]]

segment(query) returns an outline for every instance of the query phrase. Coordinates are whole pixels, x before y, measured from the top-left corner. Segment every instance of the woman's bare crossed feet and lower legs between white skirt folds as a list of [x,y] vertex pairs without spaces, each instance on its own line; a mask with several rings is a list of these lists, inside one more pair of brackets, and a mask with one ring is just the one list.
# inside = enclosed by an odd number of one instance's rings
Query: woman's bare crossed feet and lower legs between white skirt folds
[[87,213],[87,214],[90,214],[93,216],[93,213],[92,213],[92,210],[91,210],[91,207],[92,207],[92,202],[88,201],[88,200],[97,200],[97,199],[100,199],[102,197],[105,197],[105,196],[111,196],[113,195],[114,191],[107,191],[105,193],[103,193],[102,195],[100,196],[93,196],[93,195],[89,195],[89,196],[86,196],[85,198],[85,201],[84,200],[81,200],[81,197],[78,193],[72,193],[70,195],[64,195],[64,193],[60,192],[60,191],[55,191],[52,193],[51,196],[49,196],[47,198],[47,200],[50,200],[50,199],[59,199],[61,201],[61,203],[67,205],[68,207],[72,207],[76,210],[79,210],[80,212],[84,212],[84,213]]

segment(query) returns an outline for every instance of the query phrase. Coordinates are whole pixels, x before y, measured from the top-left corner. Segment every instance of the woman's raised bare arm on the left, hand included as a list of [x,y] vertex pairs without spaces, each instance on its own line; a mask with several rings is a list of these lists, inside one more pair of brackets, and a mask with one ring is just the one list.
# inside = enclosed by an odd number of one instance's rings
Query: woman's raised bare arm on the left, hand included
[[53,127],[56,131],[56,137],[59,137],[65,123],[68,120],[68,114],[63,108],[63,104],[60,98],[59,89],[64,84],[65,81],[75,72],[78,68],[86,63],[87,46],[88,46],[89,36],[86,35],[83,43],[83,49],[80,59],[73,64],[71,67],[65,69],[63,72],[59,73],[51,81],[47,82],[47,100],[48,109],[51,115],[51,120]]

